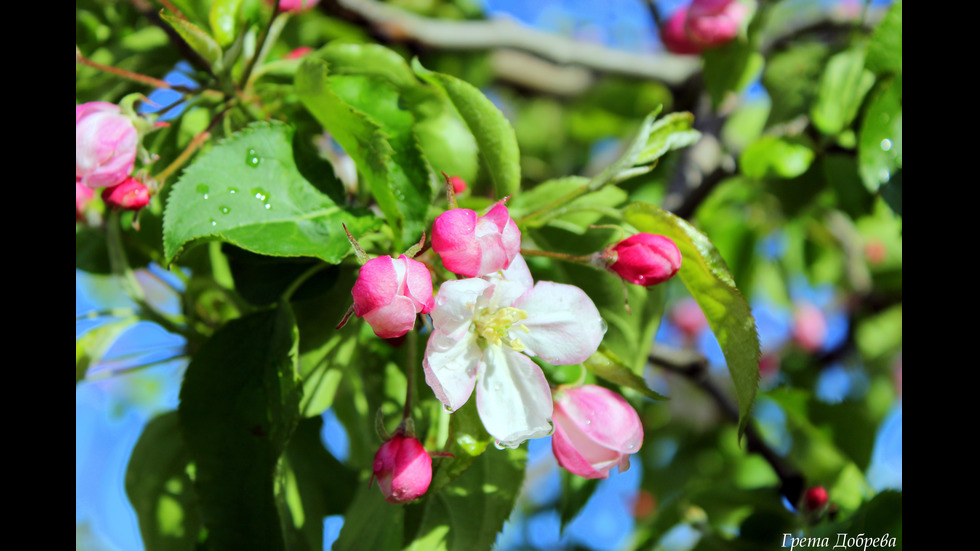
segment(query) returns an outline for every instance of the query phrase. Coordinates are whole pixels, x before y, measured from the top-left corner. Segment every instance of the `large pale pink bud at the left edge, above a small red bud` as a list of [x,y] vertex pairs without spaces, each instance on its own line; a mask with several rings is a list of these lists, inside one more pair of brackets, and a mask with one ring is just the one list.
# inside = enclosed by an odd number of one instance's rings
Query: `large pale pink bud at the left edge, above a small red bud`
[[76,105],[75,178],[93,188],[122,182],[133,171],[138,141],[136,127],[118,105]]

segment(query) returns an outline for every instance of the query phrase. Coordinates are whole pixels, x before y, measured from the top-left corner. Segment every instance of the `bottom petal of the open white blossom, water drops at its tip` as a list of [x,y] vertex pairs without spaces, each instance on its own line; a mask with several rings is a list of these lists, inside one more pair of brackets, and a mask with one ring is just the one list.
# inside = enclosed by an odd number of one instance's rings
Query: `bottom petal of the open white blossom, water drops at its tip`
[[551,434],[551,391],[530,358],[505,346],[488,346],[476,386],[480,420],[497,445],[516,448]]

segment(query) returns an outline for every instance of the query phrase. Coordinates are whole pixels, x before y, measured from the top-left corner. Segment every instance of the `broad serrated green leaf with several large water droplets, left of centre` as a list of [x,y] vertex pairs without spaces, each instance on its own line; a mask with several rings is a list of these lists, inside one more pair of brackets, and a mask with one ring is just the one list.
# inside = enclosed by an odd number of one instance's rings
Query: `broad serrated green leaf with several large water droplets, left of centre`
[[320,192],[293,154],[293,129],[257,123],[201,155],[174,184],[164,213],[168,262],[189,243],[219,239],[268,256],[340,262],[354,235],[379,226]]

